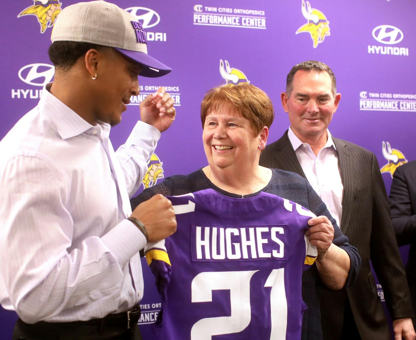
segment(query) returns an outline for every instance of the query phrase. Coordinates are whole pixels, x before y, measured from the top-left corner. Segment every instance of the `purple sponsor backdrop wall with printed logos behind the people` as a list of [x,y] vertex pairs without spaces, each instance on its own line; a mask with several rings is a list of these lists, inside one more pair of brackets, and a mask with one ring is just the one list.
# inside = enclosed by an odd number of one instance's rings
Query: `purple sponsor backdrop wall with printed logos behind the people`
[[[42,2],[47,4],[47,0]],[[47,56],[52,27],[47,20],[53,10],[77,1],[60,2],[43,17],[22,14],[28,7],[40,5],[34,0],[11,1],[3,8],[8,33],[3,34],[2,44],[0,138],[37,104],[42,85],[52,80],[53,68]],[[411,71],[416,56],[416,2],[311,0],[312,14],[320,23],[306,32],[300,32],[307,29],[304,25],[308,22],[302,15],[301,0],[114,2],[138,17],[147,31],[151,54],[173,68],[163,78],[140,79],[141,94],[131,98],[121,124],[111,131],[116,148],[139,119],[141,98],[157,86],[168,87],[178,116],[156,149],[163,169],[157,171],[158,180],[206,165],[199,105],[209,88],[225,83],[220,60],[228,61],[231,68],[243,73],[240,78],[246,77],[270,95],[276,110],[270,142],[289,126],[280,105],[287,72],[300,61],[316,59],[331,66],[342,93],[330,125],[335,137],[371,150],[380,167],[387,165],[386,170],[393,171],[395,164],[383,157],[383,141],[389,142],[399,162],[416,158],[416,145],[409,143],[416,123],[416,80]],[[46,22],[43,28],[42,20]],[[384,173],[383,178],[389,190],[391,172]],[[406,261],[407,248],[401,251]],[[146,324],[154,320],[160,299],[145,262],[143,267],[145,296],[140,323],[144,338],[151,339]],[[383,297],[381,287],[379,294]],[[14,312],[0,308],[1,339],[10,338],[16,318]]]

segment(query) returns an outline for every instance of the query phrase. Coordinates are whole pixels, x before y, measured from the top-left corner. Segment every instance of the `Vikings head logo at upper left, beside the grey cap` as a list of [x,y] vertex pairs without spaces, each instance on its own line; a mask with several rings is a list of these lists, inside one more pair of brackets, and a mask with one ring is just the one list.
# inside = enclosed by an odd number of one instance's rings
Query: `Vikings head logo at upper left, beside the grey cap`
[[59,0],[35,0],[33,6],[27,7],[17,17],[36,15],[37,21],[40,23],[40,33],[45,33],[47,27],[53,26],[61,11],[62,7]]

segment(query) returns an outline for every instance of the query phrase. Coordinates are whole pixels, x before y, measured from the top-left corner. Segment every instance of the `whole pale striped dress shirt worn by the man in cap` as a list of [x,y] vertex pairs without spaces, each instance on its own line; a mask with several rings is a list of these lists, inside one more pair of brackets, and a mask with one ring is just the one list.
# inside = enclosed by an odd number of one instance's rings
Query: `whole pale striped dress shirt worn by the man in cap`
[[160,138],[139,121],[114,152],[110,126],[90,125],[50,85],[0,142],[0,302],[27,323],[102,318],[141,300],[146,238],[126,217]]

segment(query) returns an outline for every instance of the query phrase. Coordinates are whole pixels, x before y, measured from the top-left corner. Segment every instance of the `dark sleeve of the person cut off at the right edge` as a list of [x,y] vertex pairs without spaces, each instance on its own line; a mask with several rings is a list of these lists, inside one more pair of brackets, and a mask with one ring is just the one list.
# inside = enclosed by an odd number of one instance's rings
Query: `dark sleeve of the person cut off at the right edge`
[[399,166],[394,171],[389,195],[391,223],[399,246],[414,243],[416,239],[416,215],[412,215],[409,184]]

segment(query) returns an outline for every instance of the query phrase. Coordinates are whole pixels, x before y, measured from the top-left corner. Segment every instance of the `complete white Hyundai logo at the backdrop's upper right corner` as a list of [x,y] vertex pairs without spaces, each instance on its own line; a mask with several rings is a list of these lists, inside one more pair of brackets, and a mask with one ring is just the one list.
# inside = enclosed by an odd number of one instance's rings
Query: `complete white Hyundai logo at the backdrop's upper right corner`
[[[380,42],[384,45],[399,44],[404,38],[404,34],[401,31],[401,29],[392,25],[379,25],[377,27],[374,27],[371,34],[377,42]],[[394,56],[409,56],[409,48],[399,46],[368,45],[368,53],[392,54]]]

